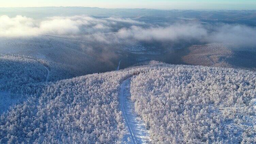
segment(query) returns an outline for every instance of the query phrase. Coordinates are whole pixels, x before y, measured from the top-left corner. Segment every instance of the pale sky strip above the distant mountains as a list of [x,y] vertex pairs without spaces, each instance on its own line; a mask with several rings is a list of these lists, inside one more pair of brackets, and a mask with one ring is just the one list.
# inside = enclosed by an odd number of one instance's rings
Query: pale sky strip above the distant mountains
[[89,6],[101,8],[255,10],[256,0],[0,0],[0,7]]

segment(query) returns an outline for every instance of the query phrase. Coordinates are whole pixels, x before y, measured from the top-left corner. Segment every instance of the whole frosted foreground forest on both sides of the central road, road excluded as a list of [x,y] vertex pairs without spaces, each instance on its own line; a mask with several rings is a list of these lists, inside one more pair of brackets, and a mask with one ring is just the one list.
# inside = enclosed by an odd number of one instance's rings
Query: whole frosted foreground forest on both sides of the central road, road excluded
[[129,77],[153,143],[255,143],[254,72],[155,61],[32,87],[1,115],[0,143],[120,143]]

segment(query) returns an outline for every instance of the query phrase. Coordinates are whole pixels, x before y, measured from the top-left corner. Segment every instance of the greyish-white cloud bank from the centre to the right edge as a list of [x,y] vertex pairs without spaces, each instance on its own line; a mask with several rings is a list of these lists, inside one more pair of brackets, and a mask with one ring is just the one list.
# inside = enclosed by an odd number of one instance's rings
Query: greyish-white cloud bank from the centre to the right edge
[[201,24],[173,24],[167,27],[142,28],[131,26],[122,28],[117,36],[122,39],[139,41],[173,41],[206,43],[231,43],[235,46],[256,46],[256,28],[246,25],[222,24],[209,29]]

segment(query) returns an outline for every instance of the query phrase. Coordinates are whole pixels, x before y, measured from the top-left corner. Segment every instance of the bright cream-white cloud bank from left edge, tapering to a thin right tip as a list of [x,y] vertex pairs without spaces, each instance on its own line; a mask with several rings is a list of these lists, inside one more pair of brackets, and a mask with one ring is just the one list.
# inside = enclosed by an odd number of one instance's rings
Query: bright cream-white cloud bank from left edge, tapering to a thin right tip
[[93,18],[88,16],[51,17],[37,21],[26,16],[10,18],[0,16],[0,36],[19,37],[42,34],[79,35],[107,33],[114,30],[116,25],[143,24],[142,22],[122,18]]

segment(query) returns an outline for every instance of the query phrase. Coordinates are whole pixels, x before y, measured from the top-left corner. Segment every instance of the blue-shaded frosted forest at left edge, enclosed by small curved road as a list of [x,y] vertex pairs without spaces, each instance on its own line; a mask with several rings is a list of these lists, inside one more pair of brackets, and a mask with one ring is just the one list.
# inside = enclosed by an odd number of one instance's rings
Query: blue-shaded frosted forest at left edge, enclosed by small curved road
[[19,55],[0,55],[0,90],[17,92],[23,85],[45,82],[47,70],[37,60]]

